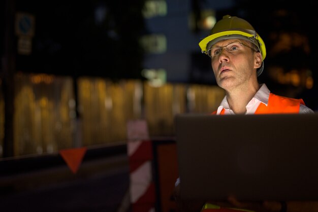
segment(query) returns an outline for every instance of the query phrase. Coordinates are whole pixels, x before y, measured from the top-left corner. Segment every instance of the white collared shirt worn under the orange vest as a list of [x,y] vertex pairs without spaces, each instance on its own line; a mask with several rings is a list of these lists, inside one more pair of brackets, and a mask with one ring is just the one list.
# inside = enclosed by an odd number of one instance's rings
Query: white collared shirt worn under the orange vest
[[[260,103],[264,103],[266,106],[268,104],[270,90],[264,84],[261,84],[261,88],[256,92],[253,98],[246,105],[245,114],[255,114]],[[219,115],[222,110],[225,110],[224,114],[235,114],[231,109],[227,97],[225,96],[221,101],[219,107],[217,108],[216,115]],[[304,104],[300,104],[299,113],[314,113],[310,108],[306,107]]]

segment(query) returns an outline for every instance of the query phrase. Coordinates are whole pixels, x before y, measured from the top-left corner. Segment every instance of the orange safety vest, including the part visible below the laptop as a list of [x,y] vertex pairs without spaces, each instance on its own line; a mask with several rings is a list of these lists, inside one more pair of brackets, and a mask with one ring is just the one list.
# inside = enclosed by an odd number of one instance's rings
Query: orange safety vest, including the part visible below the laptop
[[[300,104],[305,104],[302,99],[289,98],[284,96],[278,96],[273,93],[269,94],[268,104],[260,103],[256,109],[255,114],[277,114],[277,113],[299,113]],[[220,115],[224,115],[225,109],[220,112]],[[212,114],[216,114],[214,111]],[[218,205],[205,203],[201,212],[238,212],[238,211],[250,211],[240,208],[226,208]]]

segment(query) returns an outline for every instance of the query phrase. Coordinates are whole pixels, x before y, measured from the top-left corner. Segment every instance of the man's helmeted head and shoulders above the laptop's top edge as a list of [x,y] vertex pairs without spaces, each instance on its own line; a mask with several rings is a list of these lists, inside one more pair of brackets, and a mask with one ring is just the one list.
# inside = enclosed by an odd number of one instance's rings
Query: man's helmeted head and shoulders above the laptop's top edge
[[216,114],[313,113],[303,100],[273,95],[259,85],[266,48],[247,21],[224,16],[199,46],[211,57],[216,82],[226,91]]

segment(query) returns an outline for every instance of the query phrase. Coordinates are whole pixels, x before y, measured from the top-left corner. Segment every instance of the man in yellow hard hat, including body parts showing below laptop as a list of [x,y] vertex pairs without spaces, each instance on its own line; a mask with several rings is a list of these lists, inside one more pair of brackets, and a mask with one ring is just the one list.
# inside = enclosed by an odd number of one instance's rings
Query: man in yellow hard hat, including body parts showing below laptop
[[[216,115],[314,113],[302,99],[278,96],[259,84],[257,77],[264,69],[265,43],[245,20],[226,15],[219,20],[209,36],[199,46],[211,58],[217,85],[226,91]],[[229,197],[228,202],[179,202],[180,183],[176,182],[175,197],[181,211],[219,211],[226,208],[244,208],[253,211],[318,211],[318,202],[240,202]],[[235,209],[234,209],[235,210]]]

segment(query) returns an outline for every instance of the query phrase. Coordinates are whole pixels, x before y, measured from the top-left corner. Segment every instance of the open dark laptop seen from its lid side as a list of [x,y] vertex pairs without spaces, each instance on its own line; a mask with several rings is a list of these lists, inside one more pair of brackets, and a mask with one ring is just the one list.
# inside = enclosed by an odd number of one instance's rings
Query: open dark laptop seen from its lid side
[[183,200],[318,200],[318,114],[175,117]]

